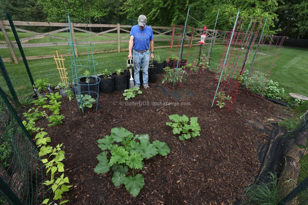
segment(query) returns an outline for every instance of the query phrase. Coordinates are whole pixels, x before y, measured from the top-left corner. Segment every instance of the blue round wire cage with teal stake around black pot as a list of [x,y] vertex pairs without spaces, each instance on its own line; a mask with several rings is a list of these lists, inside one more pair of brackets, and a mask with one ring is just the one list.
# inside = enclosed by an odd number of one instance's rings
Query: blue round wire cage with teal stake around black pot
[[[88,107],[89,106],[88,104],[93,104],[94,102],[96,102],[96,110],[97,110],[100,78],[97,77],[95,72],[95,66],[97,66],[98,63],[94,61],[93,57],[92,46],[94,46],[95,44],[91,42],[91,29],[90,29],[90,42],[88,41],[74,42],[69,13],[67,13],[67,19],[71,37],[70,39],[68,38],[68,44],[69,44],[70,54],[71,56],[73,56],[73,59],[71,58],[71,69],[72,69],[72,78],[73,78],[73,85],[75,88],[77,106],[79,110],[81,109],[82,112],[84,112],[85,106]],[[88,54],[87,59],[79,59],[79,57],[76,56],[75,49],[77,47],[85,47],[87,49],[87,54]],[[75,68],[75,77],[73,68]],[[87,74],[87,71],[89,74]],[[83,73],[83,75],[79,76],[78,72]],[[88,101],[90,96],[91,98],[94,99],[94,101]]]

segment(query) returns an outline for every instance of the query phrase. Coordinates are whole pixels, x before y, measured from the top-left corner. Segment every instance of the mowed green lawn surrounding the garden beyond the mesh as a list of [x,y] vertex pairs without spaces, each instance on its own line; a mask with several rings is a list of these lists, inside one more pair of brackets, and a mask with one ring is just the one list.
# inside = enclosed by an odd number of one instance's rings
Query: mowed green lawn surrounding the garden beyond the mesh
[[[20,38],[25,38],[29,36],[33,36],[34,34],[29,33],[18,33]],[[58,37],[67,38],[66,32],[53,34]],[[89,41],[89,34],[82,32],[75,32],[75,38],[87,37],[82,41]],[[128,40],[129,37],[126,37],[128,34],[121,33],[121,37],[124,40]],[[107,33],[105,36],[94,36],[91,37],[91,41],[105,41],[105,40],[116,40],[112,38],[108,38],[107,36],[115,37],[116,33]],[[14,39],[13,34],[9,34],[11,40]],[[169,45],[170,41],[159,41],[159,39],[169,38],[169,36],[157,36],[155,37],[156,41],[154,41],[154,46],[164,46]],[[4,37],[2,32],[0,32],[0,41],[4,41]],[[43,43],[43,42],[67,42],[66,40],[55,39],[52,37],[42,37],[31,39],[26,41],[24,44],[29,43]],[[217,40],[219,42],[219,40]],[[195,42],[193,42],[195,43]],[[4,45],[4,44],[2,44]],[[63,46],[45,46],[45,47],[30,47],[24,48],[24,53],[27,57],[29,56],[43,56],[43,55],[55,55],[55,51],[58,50],[59,55],[69,54],[68,45]],[[127,49],[128,42],[121,43],[120,49]],[[190,53],[188,58],[188,63],[193,61],[194,54],[196,53],[195,49],[198,47],[190,48]],[[254,48],[255,49],[255,48]],[[82,52],[100,52],[103,50],[117,50],[117,43],[107,43],[107,44],[96,44],[92,47],[86,46],[77,46],[78,53]],[[176,53],[179,49],[173,48],[172,52]],[[184,53],[187,53],[187,48],[184,49]],[[221,55],[223,50],[223,45],[215,44],[213,46],[212,55],[210,58],[210,69],[217,70],[218,62],[223,57]],[[14,49],[17,57],[21,57],[19,50],[17,48]],[[160,55],[160,59],[164,60],[168,58],[169,48],[164,49],[155,49],[155,54]],[[9,58],[11,54],[9,49],[0,49],[0,54],[2,58]],[[121,53],[117,52],[109,52],[109,53],[98,53],[94,54],[93,58],[98,62],[98,65],[95,66],[96,73],[100,73],[103,69],[108,69],[110,72],[115,71],[115,69],[125,69],[126,59],[128,56],[128,51],[123,51]],[[65,68],[67,68],[67,73],[70,78],[71,76],[71,58],[69,56],[64,57],[66,60],[64,61]],[[249,59],[245,65],[245,69],[249,69],[253,58],[253,53],[249,55]],[[259,57],[259,58],[262,58]],[[88,59],[87,55],[79,55],[78,59]],[[91,57],[90,57],[91,59]],[[92,60],[92,59],[91,59]],[[260,59],[259,59],[260,60]],[[267,59],[268,60],[268,59]],[[37,60],[28,60],[28,64],[30,66],[31,73],[33,75],[34,80],[38,78],[47,77],[51,84],[56,85],[59,81],[59,72],[56,69],[55,60],[53,58],[47,59],[37,59]],[[270,75],[270,79],[274,81],[278,81],[279,85],[285,88],[286,93],[299,93],[305,96],[308,96],[308,51],[307,49],[301,48],[293,48],[293,47],[285,47],[280,51],[280,57],[278,57],[276,61],[276,66],[272,69],[272,74]],[[11,77],[11,81],[16,88],[18,94],[23,95],[25,93],[31,93],[31,85],[30,81],[25,69],[25,66],[22,61],[19,61],[18,64],[13,64],[11,62],[5,62],[6,69]],[[84,68],[78,68],[78,73],[81,75],[83,73]],[[71,80],[71,79],[70,79]],[[5,82],[1,80],[0,86],[3,89],[6,89]],[[27,90],[27,91],[25,91]],[[30,91],[28,91],[30,90]]]

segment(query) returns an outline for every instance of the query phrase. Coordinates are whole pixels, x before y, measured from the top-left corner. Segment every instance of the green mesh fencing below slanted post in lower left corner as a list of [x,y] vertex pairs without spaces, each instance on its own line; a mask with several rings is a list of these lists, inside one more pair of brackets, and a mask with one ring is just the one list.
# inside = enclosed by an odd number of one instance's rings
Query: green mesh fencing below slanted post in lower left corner
[[41,204],[50,198],[44,186],[38,150],[18,123],[0,89],[0,204]]

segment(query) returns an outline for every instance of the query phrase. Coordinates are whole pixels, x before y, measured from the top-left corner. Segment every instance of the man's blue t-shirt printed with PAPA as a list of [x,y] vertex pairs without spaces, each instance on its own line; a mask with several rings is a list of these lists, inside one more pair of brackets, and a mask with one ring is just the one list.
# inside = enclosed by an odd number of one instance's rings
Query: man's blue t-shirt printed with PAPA
[[150,26],[145,26],[144,30],[140,30],[138,24],[132,26],[130,36],[134,36],[133,49],[143,51],[150,48],[149,43],[153,39],[153,30]]

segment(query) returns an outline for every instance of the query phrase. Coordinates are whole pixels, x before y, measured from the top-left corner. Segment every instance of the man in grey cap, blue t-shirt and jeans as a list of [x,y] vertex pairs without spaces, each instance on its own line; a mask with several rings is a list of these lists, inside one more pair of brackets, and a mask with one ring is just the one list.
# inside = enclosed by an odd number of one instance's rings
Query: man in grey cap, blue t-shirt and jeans
[[149,44],[151,45],[151,60],[154,59],[153,30],[150,26],[145,25],[146,22],[147,17],[145,17],[144,15],[140,15],[138,18],[138,25],[132,26],[128,46],[128,58],[131,59],[133,57],[134,60],[135,87],[140,87],[139,72],[140,67],[142,67],[143,87],[145,89],[149,88]]

